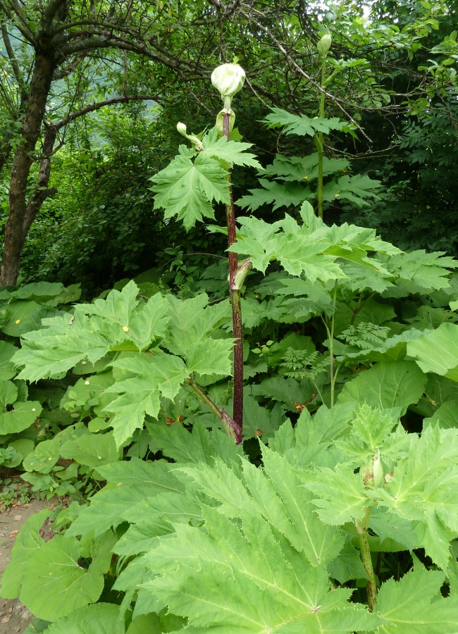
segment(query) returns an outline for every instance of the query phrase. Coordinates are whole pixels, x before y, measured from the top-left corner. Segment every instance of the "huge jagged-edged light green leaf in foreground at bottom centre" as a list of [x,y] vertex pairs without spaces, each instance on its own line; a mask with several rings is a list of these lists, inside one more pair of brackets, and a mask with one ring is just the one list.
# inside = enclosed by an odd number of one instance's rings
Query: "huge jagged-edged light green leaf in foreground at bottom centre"
[[[377,621],[329,593],[324,566],[312,566],[259,515],[242,513],[240,528],[216,509],[204,509],[205,532],[180,525],[145,556],[159,576],[145,584],[195,632],[318,633],[367,630]],[[331,598],[332,597],[332,598]]]

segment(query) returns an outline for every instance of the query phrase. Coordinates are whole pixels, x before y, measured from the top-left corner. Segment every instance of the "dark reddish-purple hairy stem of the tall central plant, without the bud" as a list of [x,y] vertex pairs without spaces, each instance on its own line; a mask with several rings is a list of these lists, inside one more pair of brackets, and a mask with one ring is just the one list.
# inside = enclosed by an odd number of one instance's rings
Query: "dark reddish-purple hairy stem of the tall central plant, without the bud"
[[[223,114],[223,135],[229,140],[230,113]],[[235,238],[235,209],[232,187],[229,181],[230,203],[226,205],[226,221],[228,223],[228,246],[234,244]],[[243,332],[242,310],[240,307],[240,290],[235,289],[235,274],[237,273],[237,254],[229,252],[229,290],[233,313],[234,343],[234,412],[235,423],[243,428]]]

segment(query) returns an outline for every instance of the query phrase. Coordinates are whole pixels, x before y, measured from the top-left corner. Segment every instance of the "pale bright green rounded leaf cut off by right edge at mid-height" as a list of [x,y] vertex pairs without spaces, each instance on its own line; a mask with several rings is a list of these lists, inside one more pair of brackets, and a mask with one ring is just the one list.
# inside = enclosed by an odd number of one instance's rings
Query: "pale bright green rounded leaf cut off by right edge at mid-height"
[[434,372],[458,381],[458,325],[442,323],[439,328],[407,344],[423,372]]

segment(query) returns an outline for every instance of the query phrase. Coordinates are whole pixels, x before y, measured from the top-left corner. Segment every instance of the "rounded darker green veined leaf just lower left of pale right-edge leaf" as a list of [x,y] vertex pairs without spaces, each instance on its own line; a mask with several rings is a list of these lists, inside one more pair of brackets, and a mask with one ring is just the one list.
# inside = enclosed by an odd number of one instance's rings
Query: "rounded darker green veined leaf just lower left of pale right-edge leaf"
[[426,375],[414,361],[377,363],[369,370],[360,372],[357,378],[347,381],[338,396],[338,402],[366,402],[380,409],[407,407],[416,403],[423,394]]

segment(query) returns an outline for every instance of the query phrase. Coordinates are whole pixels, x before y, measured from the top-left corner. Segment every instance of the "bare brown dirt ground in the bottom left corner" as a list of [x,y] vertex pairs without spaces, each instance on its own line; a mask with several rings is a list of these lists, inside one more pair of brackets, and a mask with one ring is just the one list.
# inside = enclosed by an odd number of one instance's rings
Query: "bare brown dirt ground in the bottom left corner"
[[[53,508],[55,500],[32,499],[29,504],[20,503],[0,511],[0,577],[10,560],[14,540],[25,520],[41,511]],[[49,539],[49,527],[43,527],[44,540]],[[0,598],[0,634],[22,634],[35,617],[19,599]]]

